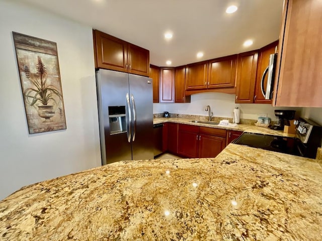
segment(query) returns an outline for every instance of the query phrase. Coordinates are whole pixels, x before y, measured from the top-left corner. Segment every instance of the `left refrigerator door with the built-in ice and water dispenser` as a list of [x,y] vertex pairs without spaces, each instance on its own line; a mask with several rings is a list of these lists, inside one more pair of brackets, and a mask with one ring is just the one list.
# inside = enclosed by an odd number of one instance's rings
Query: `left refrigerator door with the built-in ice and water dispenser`
[[[129,77],[127,73],[100,69],[96,71],[102,165],[132,160],[128,142]],[[130,140],[131,141],[131,140]]]

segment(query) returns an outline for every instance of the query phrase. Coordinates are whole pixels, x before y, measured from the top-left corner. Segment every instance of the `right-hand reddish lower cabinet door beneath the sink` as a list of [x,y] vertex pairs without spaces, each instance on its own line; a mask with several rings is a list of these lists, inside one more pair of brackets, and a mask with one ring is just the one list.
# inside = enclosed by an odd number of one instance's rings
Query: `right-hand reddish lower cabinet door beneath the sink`
[[199,158],[216,157],[225,146],[225,138],[200,134]]

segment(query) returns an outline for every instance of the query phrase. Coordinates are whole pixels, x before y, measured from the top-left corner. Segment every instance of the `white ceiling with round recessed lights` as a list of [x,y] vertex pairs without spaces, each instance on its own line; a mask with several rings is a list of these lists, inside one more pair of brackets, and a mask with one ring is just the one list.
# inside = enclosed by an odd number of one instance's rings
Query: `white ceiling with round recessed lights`
[[[150,51],[150,63],[179,66],[246,52],[279,37],[282,0],[16,0]],[[226,14],[229,5],[238,10]],[[173,38],[165,40],[166,31]],[[244,47],[244,41],[254,44]],[[197,52],[204,52],[197,58]]]

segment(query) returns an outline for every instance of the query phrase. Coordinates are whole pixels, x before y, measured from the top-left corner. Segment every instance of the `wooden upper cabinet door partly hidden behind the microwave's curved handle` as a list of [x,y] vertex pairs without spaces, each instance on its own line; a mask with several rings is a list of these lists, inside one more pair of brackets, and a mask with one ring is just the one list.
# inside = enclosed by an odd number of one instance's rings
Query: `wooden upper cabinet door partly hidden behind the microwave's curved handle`
[[[256,84],[255,84],[255,96],[254,96],[254,102],[255,103],[262,103],[262,104],[271,104],[271,99],[265,99],[263,93],[262,93],[262,76],[264,74],[264,71],[266,68],[268,68],[270,55],[275,53],[275,50],[277,50],[278,41],[275,41],[274,43],[271,43],[263,48],[260,49],[259,55],[258,55],[258,63],[257,63],[257,75],[256,75]],[[264,87],[266,89],[267,84],[267,76],[266,74],[264,79]]]

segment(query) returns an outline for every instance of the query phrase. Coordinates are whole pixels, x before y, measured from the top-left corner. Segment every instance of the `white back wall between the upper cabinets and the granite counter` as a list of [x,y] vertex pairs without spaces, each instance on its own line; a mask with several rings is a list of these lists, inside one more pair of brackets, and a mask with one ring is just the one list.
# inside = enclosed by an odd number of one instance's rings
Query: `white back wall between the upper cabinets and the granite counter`
[[153,113],[170,113],[207,115],[205,108],[210,105],[213,115],[219,117],[232,117],[235,107],[240,108],[240,118],[257,119],[259,113],[267,113],[276,121],[274,109],[295,109],[300,114],[301,108],[273,107],[270,104],[236,104],[234,94],[199,93],[191,95],[191,103],[154,103]]

